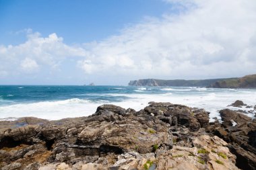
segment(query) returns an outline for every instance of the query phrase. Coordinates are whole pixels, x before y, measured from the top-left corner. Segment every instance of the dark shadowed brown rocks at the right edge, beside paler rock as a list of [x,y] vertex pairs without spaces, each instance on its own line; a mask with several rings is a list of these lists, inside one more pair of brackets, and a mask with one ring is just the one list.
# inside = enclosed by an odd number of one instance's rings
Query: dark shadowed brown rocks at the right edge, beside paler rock
[[256,167],[256,119],[238,111],[220,110],[222,124],[214,124],[214,135],[228,142],[228,148],[236,155],[236,165],[241,169]]

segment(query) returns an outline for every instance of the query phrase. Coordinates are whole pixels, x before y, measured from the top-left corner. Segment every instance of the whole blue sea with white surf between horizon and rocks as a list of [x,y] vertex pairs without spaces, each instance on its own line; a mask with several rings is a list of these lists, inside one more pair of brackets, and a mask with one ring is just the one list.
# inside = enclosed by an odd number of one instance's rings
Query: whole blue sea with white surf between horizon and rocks
[[[256,89],[214,89],[203,87],[133,87],[67,85],[1,85],[0,120],[33,116],[47,120],[89,116],[103,104],[137,111],[150,101],[170,102],[203,108],[210,121],[237,99],[256,105]],[[240,108],[244,111],[252,108]],[[255,112],[247,114],[254,118]]]

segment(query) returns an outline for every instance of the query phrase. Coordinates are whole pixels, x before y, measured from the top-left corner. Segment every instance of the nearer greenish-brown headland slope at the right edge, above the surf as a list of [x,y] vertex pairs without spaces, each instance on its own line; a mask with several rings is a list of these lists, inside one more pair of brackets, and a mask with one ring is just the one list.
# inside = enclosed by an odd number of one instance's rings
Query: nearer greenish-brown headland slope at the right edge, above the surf
[[246,75],[241,78],[224,79],[216,81],[210,87],[214,88],[255,88],[256,75]]

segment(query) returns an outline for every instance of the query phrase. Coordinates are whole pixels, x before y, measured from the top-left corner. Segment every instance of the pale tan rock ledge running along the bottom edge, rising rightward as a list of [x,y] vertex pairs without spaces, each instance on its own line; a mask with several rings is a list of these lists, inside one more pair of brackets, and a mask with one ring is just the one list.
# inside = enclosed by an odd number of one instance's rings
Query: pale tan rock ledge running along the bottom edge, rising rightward
[[[227,143],[217,136],[200,135],[191,139],[193,147],[174,145],[165,150],[158,148],[155,153],[140,154],[129,151],[117,156],[113,165],[102,163],[55,163],[40,169],[238,169],[234,165],[236,157],[228,151]],[[220,156],[225,155],[223,158]]]

